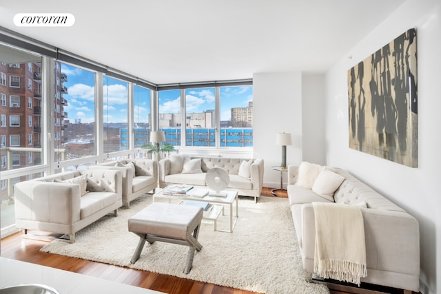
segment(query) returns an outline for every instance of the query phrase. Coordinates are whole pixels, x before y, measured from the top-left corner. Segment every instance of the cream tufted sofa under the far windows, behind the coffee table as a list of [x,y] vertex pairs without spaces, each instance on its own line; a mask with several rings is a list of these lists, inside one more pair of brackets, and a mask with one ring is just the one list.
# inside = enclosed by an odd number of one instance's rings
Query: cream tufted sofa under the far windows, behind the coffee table
[[189,159],[201,158],[201,169],[198,172],[183,174],[185,156],[173,154],[159,161],[159,185],[166,187],[171,184],[186,184],[206,186],[205,174],[213,167],[225,169],[229,174],[228,189],[238,191],[240,196],[251,196],[257,201],[263,185],[263,159],[253,159],[249,170],[249,178],[239,176],[239,168],[243,158],[198,157],[189,156]]

